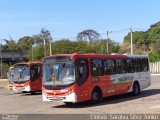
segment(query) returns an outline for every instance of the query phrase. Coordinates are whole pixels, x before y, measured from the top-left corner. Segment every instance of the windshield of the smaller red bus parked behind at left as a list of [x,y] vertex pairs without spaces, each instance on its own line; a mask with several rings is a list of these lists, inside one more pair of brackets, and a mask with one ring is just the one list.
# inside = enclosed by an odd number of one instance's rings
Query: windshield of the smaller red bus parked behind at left
[[30,80],[30,69],[28,66],[15,66],[14,74],[14,81]]

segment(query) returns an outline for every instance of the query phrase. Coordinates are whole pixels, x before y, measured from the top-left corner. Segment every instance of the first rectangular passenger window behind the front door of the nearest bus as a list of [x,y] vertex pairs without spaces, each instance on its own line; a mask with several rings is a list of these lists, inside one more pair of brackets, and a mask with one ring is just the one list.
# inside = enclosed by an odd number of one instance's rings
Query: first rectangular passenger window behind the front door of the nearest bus
[[99,59],[91,60],[91,70],[93,76],[104,75],[103,61]]

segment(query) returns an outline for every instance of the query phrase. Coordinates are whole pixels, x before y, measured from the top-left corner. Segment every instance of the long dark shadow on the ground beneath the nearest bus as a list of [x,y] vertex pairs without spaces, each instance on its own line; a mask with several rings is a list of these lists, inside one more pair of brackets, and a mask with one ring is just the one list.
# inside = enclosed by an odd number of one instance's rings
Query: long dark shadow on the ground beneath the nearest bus
[[137,96],[132,96],[131,94],[128,93],[128,94],[106,97],[99,104],[92,104],[91,101],[86,101],[86,102],[69,104],[69,105],[64,104],[64,105],[53,106],[52,108],[84,108],[84,107],[101,106],[106,104],[115,104],[115,103],[121,103],[121,102],[130,101],[134,99],[145,98],[145,97],[156,95],[156,94],[160,94],[160,89],[143,90]]

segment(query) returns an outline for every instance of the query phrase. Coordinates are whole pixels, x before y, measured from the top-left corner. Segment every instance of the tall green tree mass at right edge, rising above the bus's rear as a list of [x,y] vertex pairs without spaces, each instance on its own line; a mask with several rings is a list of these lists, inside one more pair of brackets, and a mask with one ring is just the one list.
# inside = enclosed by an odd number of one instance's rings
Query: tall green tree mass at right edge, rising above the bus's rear
[[[130,44],[130,35],[131,33],[128,33],[128,35],[124,37],[122,46]],[[133,32],[133,45],[135,54],[145,53],[150,55],[150,61],[159,60],[157,58],[159,58],[158,56],[160,55],[160,22],[151,25],[147,31]],[[126,50],[126,52],[127,51],[128,50]]]

